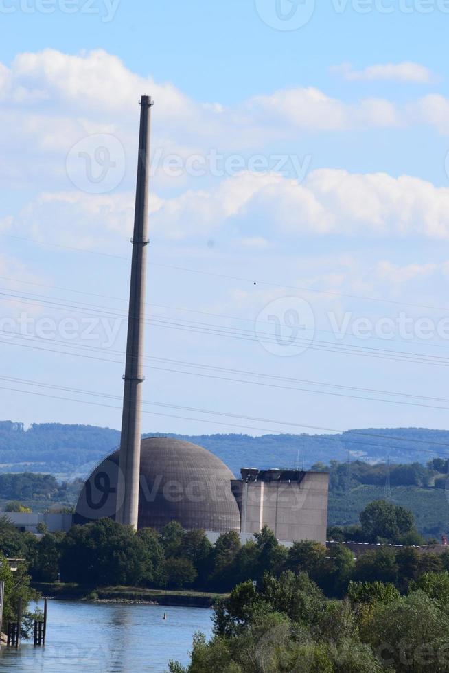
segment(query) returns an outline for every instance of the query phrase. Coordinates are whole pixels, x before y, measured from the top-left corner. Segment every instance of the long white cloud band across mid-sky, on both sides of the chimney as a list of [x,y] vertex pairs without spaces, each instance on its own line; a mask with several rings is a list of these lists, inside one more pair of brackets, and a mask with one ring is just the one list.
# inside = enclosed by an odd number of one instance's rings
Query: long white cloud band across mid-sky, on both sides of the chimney
[[[412,176],[320,169],[299,184],[279,174],[243,172],[209,190],[151,197],[152,236],[195,240],[216,235],[262,249],[311,236],[449,239],[449,188]],[[130,236],[133,193],[45,192],[3,227],[62,244],[111,248]],[[65,227],[58,227],[64,222]],[[106,239],[104,232],[108,232]],[[411,273],[413,269],[408,270]]]

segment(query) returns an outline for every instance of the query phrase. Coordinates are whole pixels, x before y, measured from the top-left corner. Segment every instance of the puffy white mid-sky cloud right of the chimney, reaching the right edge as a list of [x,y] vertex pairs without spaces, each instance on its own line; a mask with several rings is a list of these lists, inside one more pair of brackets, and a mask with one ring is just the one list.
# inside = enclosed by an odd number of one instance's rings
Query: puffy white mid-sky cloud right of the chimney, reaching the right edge
[[275,174],[227,179],[161,202],[153,223],[172,238],[220,227],[253,236],[449,238],[449,188],[384,173],[321,169],[303,184]]

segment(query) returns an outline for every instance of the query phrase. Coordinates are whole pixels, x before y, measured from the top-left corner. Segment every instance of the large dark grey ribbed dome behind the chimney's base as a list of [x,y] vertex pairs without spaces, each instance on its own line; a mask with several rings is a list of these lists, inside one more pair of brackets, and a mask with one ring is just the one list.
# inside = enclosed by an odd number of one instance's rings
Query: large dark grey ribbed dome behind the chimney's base
[[[119,452],[92,472],[76,505],[75,523],[115,518]],[[141,442],[139,528],[161,529],[178,521],[185,529],[240,530],[231,470],[201,446],[169,437]]]

